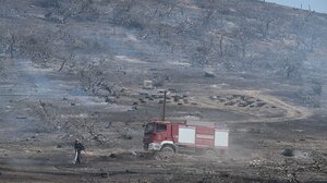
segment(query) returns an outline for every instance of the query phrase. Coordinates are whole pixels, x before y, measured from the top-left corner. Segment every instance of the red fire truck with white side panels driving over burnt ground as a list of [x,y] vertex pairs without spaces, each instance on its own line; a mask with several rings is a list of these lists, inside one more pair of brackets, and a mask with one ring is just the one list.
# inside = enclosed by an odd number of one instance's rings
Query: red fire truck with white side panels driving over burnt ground
[[144,148],[177,152],[181,149],[194,151],[226,152],[229,131],[226,126],[193,125],[168,121],[154,121],[145,125]]

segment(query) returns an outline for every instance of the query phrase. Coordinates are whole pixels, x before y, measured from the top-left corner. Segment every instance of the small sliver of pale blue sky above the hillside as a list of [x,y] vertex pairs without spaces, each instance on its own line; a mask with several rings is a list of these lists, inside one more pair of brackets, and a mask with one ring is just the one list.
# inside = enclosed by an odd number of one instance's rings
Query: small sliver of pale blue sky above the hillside
[[319,13],[327,13],[327,0],[266,0],[267,2],[275,2],[282,5],[294,7],[303,10],[314,10]]

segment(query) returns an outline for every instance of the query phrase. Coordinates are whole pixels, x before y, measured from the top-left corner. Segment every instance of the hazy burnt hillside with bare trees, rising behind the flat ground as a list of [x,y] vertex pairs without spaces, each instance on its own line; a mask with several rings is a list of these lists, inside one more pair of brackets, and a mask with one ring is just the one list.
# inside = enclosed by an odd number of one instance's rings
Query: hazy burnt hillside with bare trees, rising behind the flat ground
[[308,87],[303,96],[322,96],[326,83],[326,14],[257,0],[0,3],[1,57],[80,74],[89,90],[128,87],[125,73],[191,69],[286,81]]

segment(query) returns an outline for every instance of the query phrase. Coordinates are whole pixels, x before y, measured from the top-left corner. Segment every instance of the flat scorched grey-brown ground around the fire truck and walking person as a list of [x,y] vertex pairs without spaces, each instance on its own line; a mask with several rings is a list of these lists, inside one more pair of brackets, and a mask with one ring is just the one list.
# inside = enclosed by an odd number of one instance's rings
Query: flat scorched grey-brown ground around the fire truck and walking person
[[[2,59],[0,182],[327,180],[324,111],[310,112],[261,90],[217,89],[206,77],[193,87],[208,88],[192,90],[174,83],[167,115],[227,122],[230,148],[220,157],[161,156],[142,149],[142,125],[161,114],[160,90],[136,84],[108,103],[87,96],[74,75],[39,69],[28,60]],[[87,147],[82,164],[72,163],[75,137]],[[282,155],[286,149],[291,157]]]

